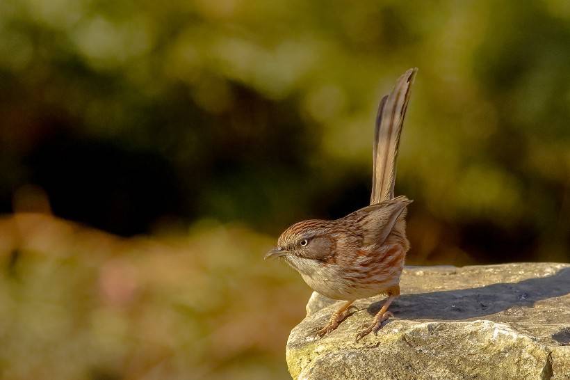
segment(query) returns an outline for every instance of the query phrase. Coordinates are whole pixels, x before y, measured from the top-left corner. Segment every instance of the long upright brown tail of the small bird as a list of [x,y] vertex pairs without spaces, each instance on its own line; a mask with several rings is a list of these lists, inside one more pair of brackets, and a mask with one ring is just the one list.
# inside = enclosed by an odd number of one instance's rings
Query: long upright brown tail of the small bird
[[417,68],[407,70],[390,95],[380,100],[374,133],[371,205],[394,198],[398,145],[416,72]]

